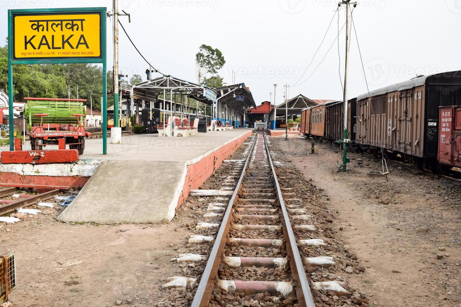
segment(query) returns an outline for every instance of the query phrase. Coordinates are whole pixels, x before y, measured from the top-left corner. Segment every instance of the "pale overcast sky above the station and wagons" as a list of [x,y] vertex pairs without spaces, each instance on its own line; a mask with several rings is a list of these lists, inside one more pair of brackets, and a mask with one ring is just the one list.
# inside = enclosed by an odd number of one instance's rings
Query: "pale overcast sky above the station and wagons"
[[[301,93],[312,99],[342,99],[339,70],[343,80],[345,28],[339,35],[339,67],[335,41],[337,2],[119,0],[119,9],[131,14],[131,23],[128,23],[128,17],[120,17],[120,20],[155,68],[167,75],[196,81],[195,53],[198,47],[207,44],[219,48],[226,60],[220,71],[224,81],[232,82],[231,72],[234,70],[236,83],[244,82],[250,87],[256,104],[260,104],[269,100],[274,83],[278,84],[277,103],[283,100],[284,84],[291,85],[290,97]],[[0,16],[3,16],[0,35],[7,36],[7,9],[73,6],[106,6],[110,11],[112,1],[0,0]],[[322,47],[295,86],[311,62],[333,16]],[[461,0],[361,0],[353,17],[370,90],[415,75],[461,68],[458,34]],[[340,29],[344,22],[343,9],[339,12]],[[107,26],[108,63],[112,66],[112,20],[107,19]],[[121,72],[138,74],[145,80],[147,64],[121,29],[119,52]],[[349,98],[365,92],[365,78],[352,29]]]

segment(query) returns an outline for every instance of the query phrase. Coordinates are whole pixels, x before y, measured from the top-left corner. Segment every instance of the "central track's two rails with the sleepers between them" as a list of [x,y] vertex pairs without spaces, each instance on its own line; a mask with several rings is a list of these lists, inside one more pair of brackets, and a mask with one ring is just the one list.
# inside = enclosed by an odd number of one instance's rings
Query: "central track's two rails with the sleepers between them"
[[[283,201],[263,133],[257,134],[250,151],[191,306],[207,306],[218,291],[313,307],[290,209]],[[255,271],[252,266],[259,269],[248,278],[248,269]],[[222,297],[225,303],[234,303]]]

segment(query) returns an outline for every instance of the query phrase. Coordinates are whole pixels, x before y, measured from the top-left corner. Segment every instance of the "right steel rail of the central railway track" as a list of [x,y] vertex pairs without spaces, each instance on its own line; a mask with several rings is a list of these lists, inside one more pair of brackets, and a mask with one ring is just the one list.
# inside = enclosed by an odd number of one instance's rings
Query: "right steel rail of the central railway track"
[[306,269],[304,268],[304,265],[302,263],[301,255],[299,253],[298,245],[296,243],[296,237],[293,233],[293,228],[291,227],[290,214],[288,214],[288,210],[285,206],[282,190],[280,189],[280,185],[278,183],[277,174],[275,174],[271,153],[269,151],[269,147],[267,146],[266,136],[264,134],[263,139],[265,145],[264,147],[266,149],[266,153],[269,160],[269,165],[271,166],[272,177],[274,178],[274,185],[276,186],[277,190],[278,200],[280,202],[280,209],[282,210],[281,220],[284,226],[282,228],[284,230],[285,239],[287,240],[287,252],[290,255],[291,275],[293,276],[293,279],[296,282],[295,288],[296,296],[298,298],[298,304],[300,306],[315,307],[311,288],[309,286],[309,281],[307,280],[306,276]]

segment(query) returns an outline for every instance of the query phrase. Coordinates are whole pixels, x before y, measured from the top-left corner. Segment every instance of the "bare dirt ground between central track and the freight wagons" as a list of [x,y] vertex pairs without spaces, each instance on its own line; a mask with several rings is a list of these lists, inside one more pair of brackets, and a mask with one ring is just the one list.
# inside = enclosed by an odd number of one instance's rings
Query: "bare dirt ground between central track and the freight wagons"
[[382,307],[461,306],[459,187],[390,166],[391,197],[385,180],[366,176],[380,170],[380,160],[350,154],[343,174],[336,145],[319,144],[318,155],[306,156],[305,138],[270,139],[275,160],[294,164],[330,196],[334,228],[342,230],[337,239],[367,267],[365,275],[350,274],[349,283]]

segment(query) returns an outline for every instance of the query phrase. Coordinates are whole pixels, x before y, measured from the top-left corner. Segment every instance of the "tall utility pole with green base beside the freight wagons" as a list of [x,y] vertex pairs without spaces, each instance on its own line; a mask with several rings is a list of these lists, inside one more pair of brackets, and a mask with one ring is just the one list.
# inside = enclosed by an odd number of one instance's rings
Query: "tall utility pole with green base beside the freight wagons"
[[350,162],[347,157],[347,143],[350,139],[347,138],[347,120],[348,120],[348,72],[349,72],[349,18],[350,18],[350,5],[357,6],[357,2],[350,2],[350,0],[343,0],[338,3],[338,6],[346,6],[346,59],[345,59],[345,72],[344,72],[344,118],[343,118],[343,172],[347,171],[346,165]]

